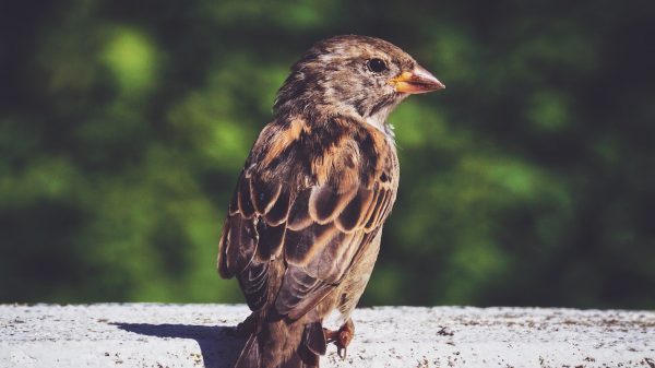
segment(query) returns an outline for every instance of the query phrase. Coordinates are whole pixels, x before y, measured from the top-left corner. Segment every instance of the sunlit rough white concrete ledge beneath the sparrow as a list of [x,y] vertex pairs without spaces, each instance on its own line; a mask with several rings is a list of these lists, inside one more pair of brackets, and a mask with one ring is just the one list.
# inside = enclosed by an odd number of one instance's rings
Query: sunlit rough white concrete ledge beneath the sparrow
[[[228,368],[248,316],[224,305],[0,305],[0,367]],[[655,312],[373,308],[354,314],[346,360],[321,367],[655,368]]]

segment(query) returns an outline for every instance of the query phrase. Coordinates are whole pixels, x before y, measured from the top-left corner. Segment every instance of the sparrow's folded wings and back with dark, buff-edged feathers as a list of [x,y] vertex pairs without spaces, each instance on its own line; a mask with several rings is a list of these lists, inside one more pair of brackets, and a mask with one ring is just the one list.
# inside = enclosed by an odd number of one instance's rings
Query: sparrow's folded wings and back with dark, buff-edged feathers
[[[340,284],[395,197],[396,174],[380,152],[386,141],[342,136],[317,155],[302,134],[293,122],[262,132],[239,178],[218,260],[223,276],[237,275],[251,309],[271,299],[291,319]],[[270,261],[281,257],[286,270],[274,275]]]

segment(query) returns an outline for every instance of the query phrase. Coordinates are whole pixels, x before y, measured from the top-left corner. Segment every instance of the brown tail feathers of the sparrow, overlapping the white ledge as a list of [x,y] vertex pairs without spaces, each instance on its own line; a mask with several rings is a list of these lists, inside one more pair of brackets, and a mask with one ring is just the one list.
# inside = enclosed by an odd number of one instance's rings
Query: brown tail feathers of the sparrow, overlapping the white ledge
[[326,346],[320,321],[263,321],[248,339],[235,368],[318,368]]

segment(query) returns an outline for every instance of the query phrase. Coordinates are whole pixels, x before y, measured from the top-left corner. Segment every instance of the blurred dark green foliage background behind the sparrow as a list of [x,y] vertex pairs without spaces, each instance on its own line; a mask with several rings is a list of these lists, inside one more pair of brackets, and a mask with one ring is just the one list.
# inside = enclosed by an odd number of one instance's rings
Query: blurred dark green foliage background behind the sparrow
[[229,194],[318,39],[446,85],[392,116],[401,191],[362,304],[655,308],[655,2],[0,5],[0,301],[239,302]]

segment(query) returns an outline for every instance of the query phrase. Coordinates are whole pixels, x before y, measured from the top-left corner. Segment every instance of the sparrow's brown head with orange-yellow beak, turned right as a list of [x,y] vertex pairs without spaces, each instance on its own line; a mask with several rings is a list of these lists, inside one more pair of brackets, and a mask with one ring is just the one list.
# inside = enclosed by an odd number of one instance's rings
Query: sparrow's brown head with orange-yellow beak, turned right
[[382,124],[409,94],[445,86],[398,47],[373,37],[336,36],[294,64],[277,94],[277,114],[320,111]]

